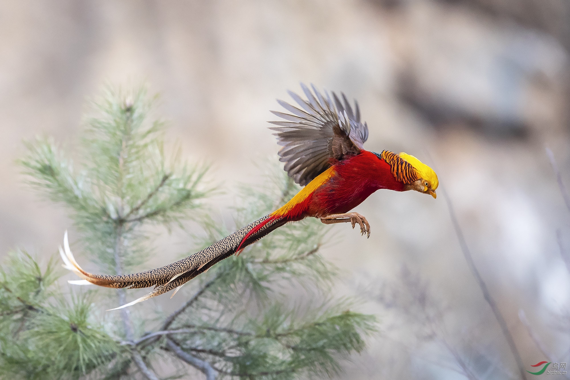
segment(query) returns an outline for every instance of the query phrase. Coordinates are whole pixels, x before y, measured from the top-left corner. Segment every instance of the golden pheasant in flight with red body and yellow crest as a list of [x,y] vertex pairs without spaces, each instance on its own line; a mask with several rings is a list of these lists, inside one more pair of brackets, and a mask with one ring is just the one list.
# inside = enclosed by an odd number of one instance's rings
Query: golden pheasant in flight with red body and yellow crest
[[147,288],[154,290],[117,309],[148,300],[175,289],[174,294],[192,278],[206,272],[212,265],[232,254],[241,252],[274,229],[306,217],[316,217],[325,224],[358,224],[361,235],[370,236],[370,224],[363,215],[349,212],[378,189],[394,191],[415,190],[436,197],[437,175],[426,164],[406,153],[387,150],[366,151],[368,126],[360,120],[360,108],[354,108],[346,96],[335,92],[312,91],[301,84],[307,99],[289,91],[298,103],[292,106],[278,100],[288,112],[271,111],[282,120],[270,122],[275,127],[279,145],[279,160],[285,171],[303,186],[290,201],[279,209],[239,229],[213,245],[161,268],[121,276],[88,273],[75,261],[69,248],[67,232],[64,249],[59,252],[64,268],[83,280],[72,284],[95,284],[108,288]]

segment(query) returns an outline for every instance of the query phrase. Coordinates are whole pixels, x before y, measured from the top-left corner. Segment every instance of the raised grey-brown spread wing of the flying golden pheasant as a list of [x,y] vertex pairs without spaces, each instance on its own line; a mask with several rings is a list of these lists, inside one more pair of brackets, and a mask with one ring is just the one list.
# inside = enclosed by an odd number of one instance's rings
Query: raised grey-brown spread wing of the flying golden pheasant
[[296,183],[304,186],[331,164],[329,159],[343,160],[345,156],[360,153],[368,139],[368,126],[360,122],[360,109],[355,101],[353,111],[347,97],[341,93],[343,102],[332,92],[324,96],[311,85],[314,94],[301,83],[308,100],[288,91],[301,108],[291,106],[283,100],[277,102],[290,114],[271,111],[287,120],[270,122],[279,145],[279,160],[285,163],[285,171]]

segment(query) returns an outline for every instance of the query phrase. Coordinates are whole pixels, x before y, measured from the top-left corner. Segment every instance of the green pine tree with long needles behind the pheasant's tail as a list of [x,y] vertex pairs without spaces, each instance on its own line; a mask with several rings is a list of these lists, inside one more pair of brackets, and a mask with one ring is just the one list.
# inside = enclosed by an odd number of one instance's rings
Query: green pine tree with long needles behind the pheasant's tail
[[[274,171],[266,188],[243,189],[235,225],[223,226],[205,212],[215,191],[207,167],[181,163],[178,149],[166,154],[162,123],[148,120],[152,102],[144,88],[108,90],[94,102],[76,152],[79,170],[51,139],[28,143],[20,162],[32,187],[68,209],[80,236],[76,256],[99,273],[143,268],[154,253],[149,227],[197,221],[198,249],[298,191]],[[168,378],[184,377],[188,365],[207,379],[335,375],[343,359],[364,349],[374,318],[330,296],[336,270],[320,255],[323,227],[292,223],[223,260],[177,294],[181,306],[169,315],[153,301],[105,313],[133,294],[60,286],[58,260],[41,269],[26,252],[12,252],[1,272],[0,378],[158,379],[166,376],[164,362],[176,368]],[[291,300],[299,289],[310,299]]]

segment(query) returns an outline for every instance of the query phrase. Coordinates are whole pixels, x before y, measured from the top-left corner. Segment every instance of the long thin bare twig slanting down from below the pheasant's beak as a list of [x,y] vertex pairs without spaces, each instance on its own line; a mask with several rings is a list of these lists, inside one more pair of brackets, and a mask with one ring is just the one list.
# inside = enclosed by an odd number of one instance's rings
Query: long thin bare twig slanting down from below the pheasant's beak
[[507,344],[508,344],[509,348],[511,349],[511,353],[515,358],[516,365],[518,366],[518,369],[520,372],[520,377],[522,379],[526,379],[526,373],[524,372],[523,361],[520,358],[520,354],[519,354],[518,349],[516,349],[515,341],[512,338],[511,332],[508,330],[507,322],[504,320],[502,314],[500,313],[499,307],[497,306],[494,298],[491,296],[491,292],[489,291],[486,282],[483,280],[483,277],[481,277],[481,273],[479,273],[477,266],[475,266],[475,261],[473,261],[473,256],[471,256],[471,252],[469,251],[469,247],[467,246],[465,236],[463,236],[463,231],[461,230],[461,227],[459,226],[459,221],[457,220],[457,216],[455,215],[455,211],[453,208],[453,204],[451,203],[451,199],[450,199],[449,195],[447,195],[445,188],[441,187],[441,190],[443,193],[443,197],[445,198],[445,201],[447,203],[447,209],[449,210],[449,216],[451,219],[451,224],[453,224],[453,228],[455,229],[455,235],[457,235],[457,239],[459,240],[459,246],[461,246],[461,251],[463,252],[463,257],[465,257],[465,261],[467,262],[467,266],[469,266],[471,273],[473,273],[475,280],[477,280],[477,283],[479,284],[479,288],[481,288],[481,292],[483,293],[483,297],[485,298],[485,301],[487,301],[487,304],[490,306],[493,314],[495,314],[495,318],[496,318],[497,322],[499,323],[499,326],[503,332],[504,338],[506,339]]

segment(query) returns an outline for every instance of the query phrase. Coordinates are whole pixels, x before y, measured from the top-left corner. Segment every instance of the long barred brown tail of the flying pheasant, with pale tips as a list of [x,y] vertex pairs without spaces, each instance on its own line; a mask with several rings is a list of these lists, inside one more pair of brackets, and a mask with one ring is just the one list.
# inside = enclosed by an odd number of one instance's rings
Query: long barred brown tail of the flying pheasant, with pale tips
[[119,306],[119,308],[111,309],[116,310],[148,300],[149,298],[158,296],[159,294],[169,292],[172,289],[176,289],[174,292],[174,294],[176,294],[182,285],[198,276],[198,274],[206,272],[206,270],[210,269],[210,267],[218,261],[221,261],[238,250],[253,244],[285,223],[287,223],[287,220],[284,218],[275,218],[267,215],[253,223],[250,223],[239,231],[234,232],[230,236],[223,238],[215,244],[202,249],[200,252],[194,253],[192,256],[173,262],[170,265],[162,266],[161,268],[135,274],[126,274],[124,276],[104,276],[101,274],[88,273],[83,270],[75,261],[75,258],[71,253],[69,242],[67,240],[67,231],[63,241],[64,249],[59,247],[59,254],[64,262],[63,267],[83,278],[83,280],[68,281],[70,284],[95,284],[117,289],[148,288],[149,286],[156,286],[152,292],[145,296],[123,306]]

